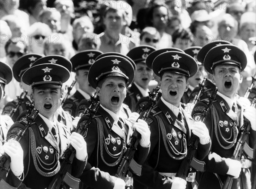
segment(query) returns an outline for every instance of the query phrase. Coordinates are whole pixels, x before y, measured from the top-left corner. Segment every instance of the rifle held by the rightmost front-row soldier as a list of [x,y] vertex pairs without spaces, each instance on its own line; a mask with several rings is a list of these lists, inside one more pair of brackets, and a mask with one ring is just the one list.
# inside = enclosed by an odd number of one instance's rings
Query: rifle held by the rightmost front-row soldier
[[[252,89],[252,87],[253,87],[253,83],[250,87],[248,87],[246,93],[244,94],[244,97],[249,96],[250,89]],[[256,98],[254,98],[253,102],[251,103],[252,107],[255,107],[255,105],[256,105]],[[236,148],[233,152],[231,159],[240,161],[243,152],[245,152],[248,157],[253,158],[253,149],[251,149],[248,146],[248,144],[246,143],[246,140],[247,140],[249,134],[250,134],[250,122],[249,122],[249,120],[244,118],[244,124],[241,127],[240,132],[239,132],[240,137],[239,137],[239,140],[237,140],[237,142],[236,142]],[[224,182],[222,189],[230,189],[232,186],[232,183],[233,183],[233,179],[234,179],[233,176],[227,175],[227,178]]]

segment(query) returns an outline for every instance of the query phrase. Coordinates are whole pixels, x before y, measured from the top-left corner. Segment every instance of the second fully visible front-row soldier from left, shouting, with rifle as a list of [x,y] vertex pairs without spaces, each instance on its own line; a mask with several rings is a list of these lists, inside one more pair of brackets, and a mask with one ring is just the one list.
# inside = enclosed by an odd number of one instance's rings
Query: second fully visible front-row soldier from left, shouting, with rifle
[[[91,66],[88,80],[99,96],[99,109],[88,125],[84,140],[88,146],[88,163],[80,179],[82,188],[124,189],[125,181],[116,178],[117,169],[123,158],[134,129],[141,134],[134,160],[142,164],[148,154],[150,132],[143,120],[131,114],[129,121],[120,116],[120,107],[127,93],[127,86],[134,79],[134,67],[121,56],[102,57]],[[87,123],[89,115],[79,120],[77,128]]]

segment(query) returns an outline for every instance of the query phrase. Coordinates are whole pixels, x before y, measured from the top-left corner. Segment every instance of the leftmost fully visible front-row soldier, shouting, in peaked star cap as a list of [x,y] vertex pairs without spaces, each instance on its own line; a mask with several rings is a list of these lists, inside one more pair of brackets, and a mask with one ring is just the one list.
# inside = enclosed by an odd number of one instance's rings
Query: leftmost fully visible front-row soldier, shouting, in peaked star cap
[[[42,58],[43,59],[43,58]],[[42,60],[41,59],[41,60]],[[43,60],[42,60],[43,61]],[[58,58],[58,61],[66,61]],[[48,62],[48,57],[44,57]],[[20,187],[45,189],[54,175],[60,170],[59,158],[67,149],[69,143],[76,149],[71,174],[79,177],[87,161],[86,143],[81,135],[68,131],[67,127],[55,118],[55,111],[60,105],[63,93],[62,83],[70,77],[70,72],[64,67],[53,63],[32,66],[22,76],[27,85],[31,85],[31,100],[39,110],[35,122],[20,140],[23,149],[24,175],[20,179]],[[11,139],[19,131],[23,131],[26,120],[14,123],[9,129],[7,138]],[[10,143],[9,145],[13,145]],[[12,175],[7,176],[9,183],[14,183]]]

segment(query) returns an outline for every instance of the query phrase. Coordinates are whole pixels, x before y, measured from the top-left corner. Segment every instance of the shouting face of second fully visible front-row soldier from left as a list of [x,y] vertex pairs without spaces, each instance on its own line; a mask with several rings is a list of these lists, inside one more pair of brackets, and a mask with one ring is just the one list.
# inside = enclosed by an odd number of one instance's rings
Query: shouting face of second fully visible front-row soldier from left
[[127,88],[123,77],[107,77],[101,87],[96,88],[102,106],[118,114],[125,100]]

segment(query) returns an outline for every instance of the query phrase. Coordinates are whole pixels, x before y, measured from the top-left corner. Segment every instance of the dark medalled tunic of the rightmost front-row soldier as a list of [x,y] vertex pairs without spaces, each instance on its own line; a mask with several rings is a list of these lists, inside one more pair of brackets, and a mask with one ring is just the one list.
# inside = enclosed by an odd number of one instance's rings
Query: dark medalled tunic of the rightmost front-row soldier
[[[238,132],[243,124],[243,109],[239,107],[238,113],[230,109],[230,106],[221,96],[216,95],[212,109],[206,118],[206,126],[212,138],[212,148],[209,155],[204,159],[206,172],[201,173],[199,189],[221,189],[227,178],[228,165],[225,158],[232,158]],[[231,105],[232,106],[232,105]],[[250,129],[247,143],[255,148],[256,132]],[[245,155],[244,155],[245,158]],[[246,160],[247,162],[247,160]],[[243,166],[242,166],[243,167]],[[242,168],[239,178],[233,180],[232,189],[249,189],[249,169]]]

